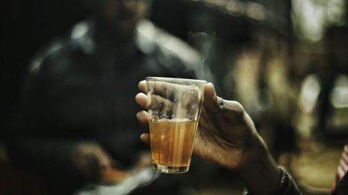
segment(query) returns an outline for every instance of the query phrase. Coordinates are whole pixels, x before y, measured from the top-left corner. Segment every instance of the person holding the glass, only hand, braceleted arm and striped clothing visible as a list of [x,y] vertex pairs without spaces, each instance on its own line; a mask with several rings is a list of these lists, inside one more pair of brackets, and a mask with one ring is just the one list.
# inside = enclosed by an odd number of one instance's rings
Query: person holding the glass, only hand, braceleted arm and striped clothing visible
[[[139,89],[141,93],[136,95],[136,102],[142,108],[147,108],[145,81],[139,83]],[[156,90],[160,92],[161,87]],[[165,102],[170,103],[168,99]],[[142,123],[148,123],[148,112],[140,111],[136,117]],[[141,139],[148,143],[150,136],[144,133]],[[284,167],[278,166],[271,157],[267,145],[243,106],[237,101],[216,96],[212,83],[205,86],[193,153],[221,164],[239,176],[246,186],[244,194],[302,194],[290,173]],[[348,143],[342,153],[337,173],[338,183],[333,187],[332,194],[348,194],[347,160]]]

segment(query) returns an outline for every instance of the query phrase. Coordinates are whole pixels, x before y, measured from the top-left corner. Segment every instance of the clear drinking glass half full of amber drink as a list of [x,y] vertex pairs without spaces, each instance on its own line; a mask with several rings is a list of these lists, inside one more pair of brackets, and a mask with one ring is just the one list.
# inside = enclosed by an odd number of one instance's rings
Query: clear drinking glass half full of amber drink
[[145,80],[152,167],[163,173],[187,172],[207,82],[164,77]]

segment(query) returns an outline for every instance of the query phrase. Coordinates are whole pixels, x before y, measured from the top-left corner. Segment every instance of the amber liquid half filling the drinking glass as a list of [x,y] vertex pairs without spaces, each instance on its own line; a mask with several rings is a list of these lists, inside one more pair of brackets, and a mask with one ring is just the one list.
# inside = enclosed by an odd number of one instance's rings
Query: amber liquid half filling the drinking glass
[[189,167],[197,121],[150,121],[152,162],[167,167]]

